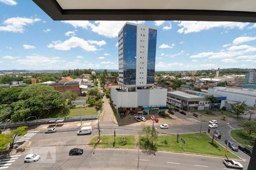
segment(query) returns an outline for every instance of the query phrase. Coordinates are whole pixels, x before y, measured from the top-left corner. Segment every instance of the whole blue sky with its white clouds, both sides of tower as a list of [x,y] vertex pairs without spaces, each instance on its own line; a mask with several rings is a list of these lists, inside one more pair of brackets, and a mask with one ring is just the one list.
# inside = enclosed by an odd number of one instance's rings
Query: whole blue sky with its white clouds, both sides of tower
[[[53,21],[31,0],[0,0],[0,70],[118,69],[125,22]],[[256,24],[138,21],[158,28],[156,70],[256,67]]]

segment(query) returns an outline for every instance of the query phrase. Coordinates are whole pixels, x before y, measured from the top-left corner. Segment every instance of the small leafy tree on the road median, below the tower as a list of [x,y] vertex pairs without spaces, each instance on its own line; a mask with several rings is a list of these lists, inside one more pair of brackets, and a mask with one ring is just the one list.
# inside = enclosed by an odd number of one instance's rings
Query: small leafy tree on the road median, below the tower
[[149,126],[143,126],[139,132],[139,145],[145,150],[156,150],[158,141],[158,131]]

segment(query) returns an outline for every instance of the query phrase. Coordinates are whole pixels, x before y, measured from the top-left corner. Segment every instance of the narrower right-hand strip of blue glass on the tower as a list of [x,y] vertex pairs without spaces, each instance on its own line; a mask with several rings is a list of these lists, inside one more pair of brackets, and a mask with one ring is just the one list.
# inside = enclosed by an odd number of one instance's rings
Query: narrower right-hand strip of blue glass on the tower
[[156,29],[148,30],[147,84],[155,81]]

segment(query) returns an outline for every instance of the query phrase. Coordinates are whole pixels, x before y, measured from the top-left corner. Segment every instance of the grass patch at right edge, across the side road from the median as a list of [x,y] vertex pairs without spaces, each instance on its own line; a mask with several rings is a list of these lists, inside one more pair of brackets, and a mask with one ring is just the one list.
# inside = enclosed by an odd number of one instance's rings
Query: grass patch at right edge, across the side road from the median
[[250,150],[253,150],[254,141],[249,138],[245,129],[234,129],[230,134],[237,142],[247,148],[250,148]]

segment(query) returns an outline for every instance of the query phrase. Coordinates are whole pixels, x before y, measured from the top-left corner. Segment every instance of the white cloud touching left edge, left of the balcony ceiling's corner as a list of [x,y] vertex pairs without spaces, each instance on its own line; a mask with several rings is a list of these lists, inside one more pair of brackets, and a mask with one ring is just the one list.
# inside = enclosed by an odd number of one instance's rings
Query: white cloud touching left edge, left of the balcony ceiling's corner
[[9,18],[6,19],[3,24],[5,26],[0,26],[0,31],[7,31],[7,32],[19,32],[23,33],[25,31],[25,26],[28,24],[33,24],[35,22],[39,22],[40,19],[35,18],[20,18],[20,17],[15,17],[15,18]]

